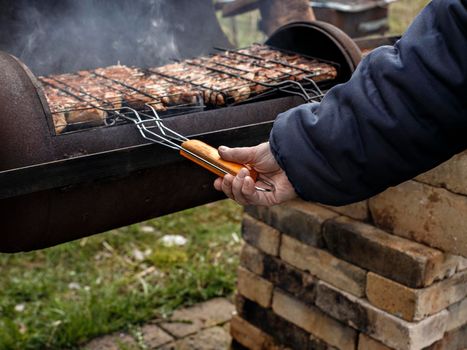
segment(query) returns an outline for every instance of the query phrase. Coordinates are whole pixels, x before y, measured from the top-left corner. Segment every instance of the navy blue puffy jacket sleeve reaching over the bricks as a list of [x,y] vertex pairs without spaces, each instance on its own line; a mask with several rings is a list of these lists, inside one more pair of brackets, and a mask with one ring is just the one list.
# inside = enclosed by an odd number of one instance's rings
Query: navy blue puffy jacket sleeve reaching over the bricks
[[467,148],[467,0],[434,0],[321,103],[279,115],[273,154],[298,195],[343,205]]

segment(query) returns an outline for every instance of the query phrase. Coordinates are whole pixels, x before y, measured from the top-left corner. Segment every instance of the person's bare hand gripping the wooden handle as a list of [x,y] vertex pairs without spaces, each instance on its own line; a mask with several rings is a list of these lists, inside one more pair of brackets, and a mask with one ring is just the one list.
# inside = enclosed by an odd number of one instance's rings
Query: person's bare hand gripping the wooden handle
[[269,142],[254,147],[228,148],[221,146],[219,154],[224,160],[252,166],[260,178],[274,184],[275,190],[273,192],[257,191],[255,186],[262,187],[262,184],[258,182],[255,185],[246,168],[243,168],[235,177],[227,174],[224,178],[217,178],[214,181],[214,188],[223,191],[237,203],[272,206],[297,196],[287,175],[277,164],[269,148]]

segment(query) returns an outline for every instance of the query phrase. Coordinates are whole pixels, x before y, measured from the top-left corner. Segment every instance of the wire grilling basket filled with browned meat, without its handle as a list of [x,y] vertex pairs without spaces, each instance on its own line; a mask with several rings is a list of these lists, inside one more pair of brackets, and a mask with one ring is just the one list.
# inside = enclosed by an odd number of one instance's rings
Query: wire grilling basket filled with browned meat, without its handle
[[154,108],[166,117],[278,94],[317,101],[322,97],[318,84],[335,79],[339,69],[333,62],[260,44],[217,50],[156,68],[117,65],[39,77],[56,133],[115,124],[115,116],[127,108]]

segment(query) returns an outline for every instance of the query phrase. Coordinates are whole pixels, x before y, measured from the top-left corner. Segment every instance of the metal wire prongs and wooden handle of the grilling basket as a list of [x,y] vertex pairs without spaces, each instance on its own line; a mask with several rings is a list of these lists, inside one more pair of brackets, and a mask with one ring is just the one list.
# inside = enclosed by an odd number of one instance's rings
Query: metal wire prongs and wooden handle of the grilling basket
[[[125,109],[131,113],[127,114],[114,111],[115,117],[110,124],[115,123],[117,119],[128,120],[136,125],[141,136],[146,140],[178,150],[183,157],[220,177],[224,177],[227,174],[235,176],[241,169],[247,168],[250,172],[250,176],[257,184],[257,186],[255,186],[257,191],[275,191],[274,184],[269,179],[264,179],[251,165],[238,164],[221,159],[217,149],[200,140],[190,140],[168,128],[164,125],[163,119],[159,117],[154,107],[149,104],[146,106],[151,109],[153,115],[138,112],[130,107],[122,107],[122,110]],[[158,132],[153,130],[157,130]]]

